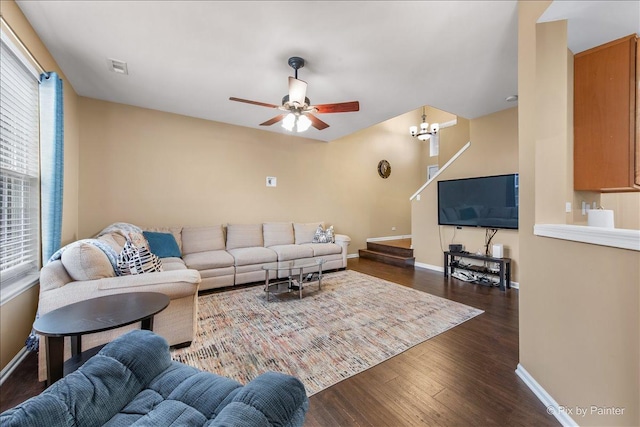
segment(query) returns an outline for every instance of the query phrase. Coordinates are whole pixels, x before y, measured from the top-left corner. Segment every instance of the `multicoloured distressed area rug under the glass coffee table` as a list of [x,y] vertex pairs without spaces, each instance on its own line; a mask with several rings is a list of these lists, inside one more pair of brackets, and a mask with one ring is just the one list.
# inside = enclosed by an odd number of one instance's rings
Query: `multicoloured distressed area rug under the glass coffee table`
[[174,360],[247,383],[266,371],[300,378],[309,396],[402,353],[482,310],[356,271],[322,289],[271,294],[263,286],[198,297],[198,331]]

